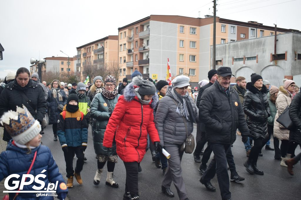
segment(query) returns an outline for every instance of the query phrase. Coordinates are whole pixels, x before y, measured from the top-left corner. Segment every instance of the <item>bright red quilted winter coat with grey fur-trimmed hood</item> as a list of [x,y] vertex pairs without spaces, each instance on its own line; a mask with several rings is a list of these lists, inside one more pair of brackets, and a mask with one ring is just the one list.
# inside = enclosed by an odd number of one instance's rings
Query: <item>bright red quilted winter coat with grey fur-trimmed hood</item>
[[112,147],[115,136],[116,152],[124,162],[140,163],[147,146],[147,133],[152,142],[160,142],[154,123],[153,109],[158,96],[149,104],[142,104],[130,83],[119,97],[104,133],[104,147]]

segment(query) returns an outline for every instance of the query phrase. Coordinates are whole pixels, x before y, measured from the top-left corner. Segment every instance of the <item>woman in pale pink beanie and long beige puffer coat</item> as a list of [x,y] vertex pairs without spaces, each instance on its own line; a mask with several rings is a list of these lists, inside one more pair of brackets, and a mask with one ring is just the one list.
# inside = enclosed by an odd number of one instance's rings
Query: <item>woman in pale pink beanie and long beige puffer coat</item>
[[276,108],[277,113],[275,115],[274,121],[274,137],[281,140],[281,166],[287,167],[285,161],[290,159],[290,155],[287,155],[289,147],[289,135],[290,131],[284,128],[281,124],[277,122],[278,117],[282,114],[287,106],[292,102],[293,97],[295,96],[295,87],[296,84],[293,80],[286,80],[284,86],[279,87],[279,92],[276,99]]

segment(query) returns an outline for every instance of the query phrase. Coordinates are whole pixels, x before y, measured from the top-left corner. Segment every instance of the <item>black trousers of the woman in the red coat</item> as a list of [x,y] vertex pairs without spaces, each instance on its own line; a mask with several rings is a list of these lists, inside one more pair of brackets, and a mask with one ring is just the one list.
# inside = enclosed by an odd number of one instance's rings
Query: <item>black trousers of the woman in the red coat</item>
[[138,166],[137,162],[123,162],[126,168],[126,190],[132,196],[138,195]]

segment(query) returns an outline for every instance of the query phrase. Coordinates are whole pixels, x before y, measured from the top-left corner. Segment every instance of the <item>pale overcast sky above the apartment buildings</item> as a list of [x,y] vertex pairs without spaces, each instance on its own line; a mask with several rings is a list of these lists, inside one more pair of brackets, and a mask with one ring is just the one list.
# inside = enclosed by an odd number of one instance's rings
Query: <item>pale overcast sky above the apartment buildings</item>
[[[0,5],[0,78],[29,69],[29,60],[76,55],[76,47],[117,35],[118,27],[150,15],[213,15],[211,0],[182,1],[3,0]],[[217,16],[301,30],[300,0],[218,0]],[[210,8],[210,10],[209,10]]]

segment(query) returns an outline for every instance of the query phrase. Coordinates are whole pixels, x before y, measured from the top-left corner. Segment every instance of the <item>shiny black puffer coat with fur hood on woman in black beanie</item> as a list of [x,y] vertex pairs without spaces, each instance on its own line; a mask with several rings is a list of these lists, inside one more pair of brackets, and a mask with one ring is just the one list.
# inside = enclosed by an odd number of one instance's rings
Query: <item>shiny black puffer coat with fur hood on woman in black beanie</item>
[[265,86],[259,90],[251,82],[247,83],[247,90],[244,95],[243,108],[247,115],[250,137],[266,138],[268,137],[268,117],[271,115],[268,106],[268,90]]

